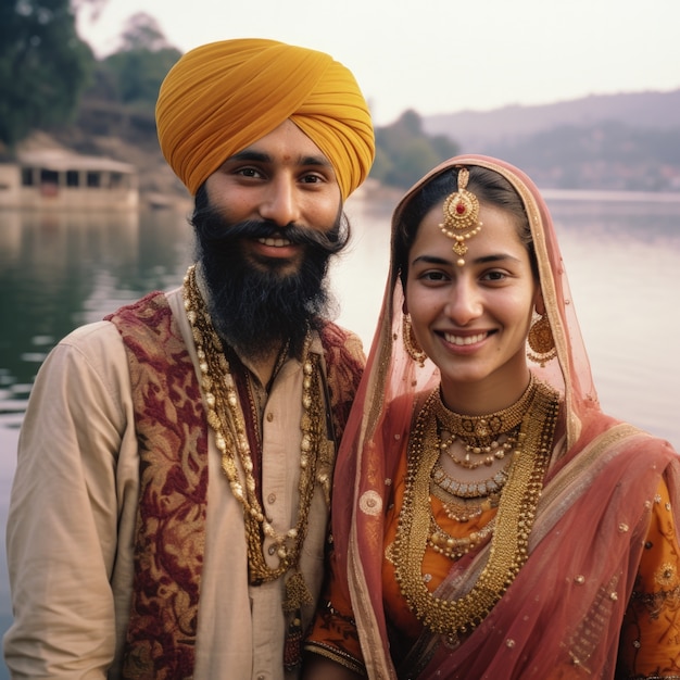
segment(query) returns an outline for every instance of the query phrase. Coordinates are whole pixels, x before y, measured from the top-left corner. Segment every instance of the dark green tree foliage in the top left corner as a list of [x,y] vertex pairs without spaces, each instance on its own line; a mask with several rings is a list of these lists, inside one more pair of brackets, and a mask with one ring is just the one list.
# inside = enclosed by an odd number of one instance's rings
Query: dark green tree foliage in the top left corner
[[70,0],[2,0],[0,142],[72,119],[93,65]]

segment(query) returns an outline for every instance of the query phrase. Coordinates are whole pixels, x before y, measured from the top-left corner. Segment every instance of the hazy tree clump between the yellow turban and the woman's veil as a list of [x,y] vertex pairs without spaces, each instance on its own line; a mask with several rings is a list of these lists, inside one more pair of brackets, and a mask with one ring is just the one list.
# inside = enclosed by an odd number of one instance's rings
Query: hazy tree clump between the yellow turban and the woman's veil
[[430,137],[413,110],[387,127],[376,129],[376,161],[370,176],[383,185],[406,189],[432,167],[457,153],[443,135]]

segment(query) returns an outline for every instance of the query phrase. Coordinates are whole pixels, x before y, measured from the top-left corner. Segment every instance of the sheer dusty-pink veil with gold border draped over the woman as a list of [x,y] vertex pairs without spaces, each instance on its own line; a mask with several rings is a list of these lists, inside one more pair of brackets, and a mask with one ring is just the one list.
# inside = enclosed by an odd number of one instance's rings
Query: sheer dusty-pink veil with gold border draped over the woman
[[[624,593],[619,602],[610,600],[606,607],[597,612],[593,609],[593,602],[597,599],[600,590],[604,589],[603,592],[612,590],[613,579],[617,582],[617,590],[630,591],[634,574],[619,574],[617,564],[621,561],[632,564],[635,556],[628,556],[626,553],[631,550],[630,546],[621,546],[618,552],[614,549],[608,552],[591,550],[585,551],[584,555],[576,551],[579,554],[569,556],[563,570],[556,571],[544,581],[545,589],[556,589],[561,584],[564,585],[563,581],[576,578],[568,571],[569,569],[578,570],[578,574],[590,574],[592,583],[578,591],[571,607],[555,610],[551,605],[552,609],[549,612],[544,603],[527,602],[521,607],[509,607],[505,601],[514,593],[517,593],[515,596],[526,596],[527,600],[531,599],[529,594],[537,599],[545,594],[543,585],[536,585],[536,575],[542,575],[544,569],[552,569],[555,563],[551,561],[565,559],[564,550],[547,545],[552,542],[542,540],[555,527],[575,521],[597,522],[580,531],[583,544],[589,547],[591,529],[594,544],[597,542],[599,532],[606,530],[607,522],[626,521],[631,528],[640,530],[645,516],[643,505],[653,495],[660,473],[657,470],[654,475],[644,465],[635,463],[635,457],[630,455],[631,449],[635,446],[631,446],[630,442],[638,442],[638,450],[651,446],[650,441],[657,442],[654,445],[655,450],[658,451],[659,446],[658,440],[617,424],[602,413],[550,213],[533,182],[521,171],[505,162],[480,155],[453,158],[432,169],[412,187],[394,211],[391,266],[380,317],[366,372],[337,459],[332,501],[335,558],[339,572],[347,574],[348,577],[347,594],[351,597],[360,627],[362,652],[369,677],[396,678],[398,673],[389,655],[388,627],[381,597],[382,511],[389,495],[392,471],[403,451],[404,438],[408,437],[416,394],[433,388],[439,382],[439,375],[431,362],[427,361],[424,367],[418,367],[404,350],[403,293],[399,272],[394,269],[394,228],[405,205],[423,184],[436,175],[450,172],[456,165],[478,165],[500,173],[515,187],[524,202],[539,264],[540,285],[556,347],[554,358],[546,362],[544,367],[532,364],[531,369],[538,378],[549,382],[561,393],[566,435],[559,453],[554,454],[549,469],[550,483],[545,489],[545,498],[541,501],[541,507],[544,508],[542,519],[534,526],[537,538],[530,546],[533,551],[531,558],[522,567],[506,595],[463,645],[457,650],[442,651],[441,640],[431,641],[431,648],[428,652],[430,665],[427,672],[418,677],[435,677],[437,672],[442,673],[441,677],[450,678],[482,677],[493,669],[501,675],[491,672],[483,677],[519,677],[508,670],[519,666],[513,666],[513,662],[508,662],[506,655],[512,653],[517,656],[522,651],[528,653],[532,644],[530,639],[532,626],[538,625],[537,621],[542,617],[550,616],[551,625],[558,627],[561,635],[569,635],[571,642],[555,639],[554,644],[546,645],[544,658],[541,657],[536,665],[536,673],[544,672],[543,676],[536,677],[545,678],[554,671],[556,658],[562,658],[561,654],[565,656],[565,664],[574,663],[572,657],[580,654],[574,650],[580,648],[579,645],[582,646],[583,641],[579,638],[578,631],[579,622],[583,618],[600,617],[597,630],[601,631],[602,626],[606,629],[606,620],[621,616],[621,606],[625,607],[627,599],[624,597]],[[671,451],[670,446],[667,449],[659,463],[662,467],[666,466],[665,462],[670,456],[668,453]],[[612,499],[616,495],[617,484],[621,486],[619,479],[621,466],[615,466],[616,469],[609,471],[612,466],[608,466],[607,462],[621,455],[630,457],[631,462],[627,464],[629,467],[639,468],[640,486],[632,498],[630,516],[627,519],[621,516],[616,520],[607,519],[606,504],[603,507],[600,499],[588,502],[582,502],[582,499],[597,495],[585,494],[585,490],[593,483],[602,484],[602,493],[608,493]],[[597,463],[592,464],[593,461]],[[639,505],[635,506],[635,503]],[[591,520],[588,519],[589,513]],[[565,537],[568,536],[569,532],[565,531]],[[594,564],[595,558],[600,564]],[[486,555],[482,553],[467,562],[462,561],[459,569],[457,566],[452,569],[452,576],[453,571],[459,570],[457,577],[461,583],[459,592],[465,592],[466,576],[479,569]],[[529,568],[530,565],[534,566]],[[454,595],[458,592],[456,588],[452,590]],[[571,590],[570,595],[574,594]],[[527,618],[531,619],[532,625],[525,625],[522,631],[522,619]],[[549,621],[543,621],[543,625],[549,625]],[[499,637],[501,634],[504,641]],[[578,642],[579,640],[581,642]],[[599,664],[601,668],[602,664],[610,664],[610,660],[606,662],[606,657],[612,657],[615,644],[616,639],[609,639],[605,634],[596,645],[597,648],[589,653],[589,664],[593,665],[593,668]],[[534,651],[531,654],[534,654]],[[475,658],[480,655],[484,656],[484,660],[476,662]],[[613,657],[616,657],[615,652]],[[519,673],[519,670],[516,672]],[[521,677],[534,675],[527,672],[526,669],[521,672]],[[550,677],[561,676],[550,675]]]

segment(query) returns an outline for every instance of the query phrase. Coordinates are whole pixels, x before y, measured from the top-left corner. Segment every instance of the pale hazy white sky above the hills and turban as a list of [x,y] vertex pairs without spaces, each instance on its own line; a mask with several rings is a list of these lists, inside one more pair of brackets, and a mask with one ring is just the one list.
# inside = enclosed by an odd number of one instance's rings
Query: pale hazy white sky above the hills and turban
[[105,0],[79,34],[103,56],[153,16],[187,51],[263,37],[332,54],[378,125],[420,114],[680,88],[680,0]]

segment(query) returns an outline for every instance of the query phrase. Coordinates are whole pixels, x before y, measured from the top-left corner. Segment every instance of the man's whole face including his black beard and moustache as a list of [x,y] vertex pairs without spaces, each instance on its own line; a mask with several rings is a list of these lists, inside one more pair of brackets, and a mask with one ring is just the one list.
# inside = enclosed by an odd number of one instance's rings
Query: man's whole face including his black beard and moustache
[[259,358],[328,316],[329,257],[347,243],[332,167],[292,123],[228,159],[192,217],[213,323]]

